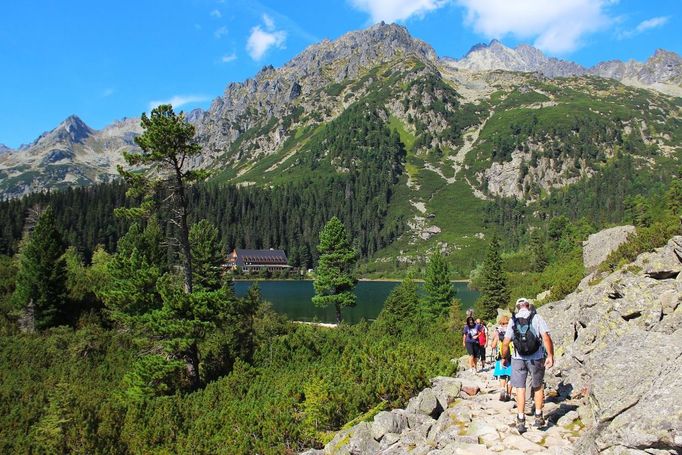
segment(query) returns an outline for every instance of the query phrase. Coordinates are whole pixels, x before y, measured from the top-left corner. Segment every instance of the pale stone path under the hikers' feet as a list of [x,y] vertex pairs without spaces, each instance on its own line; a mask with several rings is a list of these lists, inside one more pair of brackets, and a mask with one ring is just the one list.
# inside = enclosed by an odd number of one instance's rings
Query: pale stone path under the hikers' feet
[[[461,360],[460,360],[461,362]],[[491,372],[464,371],[456,378],[437,377],[412,398],[406,409],[380,412],[373,421],[339,432],[322,450],[306,455],[569,455],[583,426],[576,400],[545,404],[547,426],[519,434],[513,402],[499,401],[498,382]]]

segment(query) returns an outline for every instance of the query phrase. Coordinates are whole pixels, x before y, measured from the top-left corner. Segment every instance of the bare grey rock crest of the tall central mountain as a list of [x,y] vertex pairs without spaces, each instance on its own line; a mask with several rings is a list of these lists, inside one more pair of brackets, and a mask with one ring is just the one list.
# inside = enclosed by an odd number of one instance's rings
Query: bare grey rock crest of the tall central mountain
[[[328,99],[324,88],[356,79],[368,68],[407,55],[424,62],[437,60],[433,48],[410,36],[405,27],[381,23],[346,33],[334,41],[323,40],[281,68],[266,66],[252,79],[229,84],[196,125],[205,159],[210,162],[228,152],[249,129],[263,126],[270,119],[295,115],[297,107],[316,112],[331,110],[336,102]],[[265,138],[258,149],[272,153],[285,139]],[[238,160],[243,156],[226,158]]]

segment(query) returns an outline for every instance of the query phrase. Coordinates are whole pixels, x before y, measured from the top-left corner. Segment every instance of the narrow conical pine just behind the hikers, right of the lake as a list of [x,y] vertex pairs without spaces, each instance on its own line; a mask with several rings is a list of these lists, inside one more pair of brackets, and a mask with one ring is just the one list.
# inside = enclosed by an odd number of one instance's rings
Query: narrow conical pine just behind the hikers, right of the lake
[[481,296],[476,302],[476,315],[491,320],[497,315],[498,308],[507,308],[510,298],[497,235],[490,240],[481,275]]

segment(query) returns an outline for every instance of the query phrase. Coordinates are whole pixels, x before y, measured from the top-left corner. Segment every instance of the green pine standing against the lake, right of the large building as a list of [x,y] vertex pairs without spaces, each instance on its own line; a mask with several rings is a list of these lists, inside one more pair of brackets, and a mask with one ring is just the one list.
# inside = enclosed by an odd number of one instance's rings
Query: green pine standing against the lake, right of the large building
[[343,223],[333,217],[320,232],[317,246],[320,259],[315,269],[315,296],[318,307],[334,305],[336,322],[341,322],[341,308],[355,306],[353,288],[358,282],[354,268],[358,254],[348,241]]

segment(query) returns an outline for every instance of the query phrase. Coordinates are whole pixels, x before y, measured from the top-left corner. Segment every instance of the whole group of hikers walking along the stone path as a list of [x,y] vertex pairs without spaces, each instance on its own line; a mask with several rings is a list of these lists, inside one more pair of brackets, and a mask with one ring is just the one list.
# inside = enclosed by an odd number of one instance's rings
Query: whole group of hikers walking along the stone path
[[[490,348],[494,359],[493,376],[500,380],[500,400],[510,401],[516,395],[516,428],[526,431],[526,388],[530,387],[534,403],[533,426],[546,425],[542,414],[545,390],[545,369],[554,365],[554,345],[549,327],[526,298],[516,301],[512,316],[500,314],[492,336],[486,322],[467,314],[462,332],[462,344],[469,354],[469,368],[473,372],[486,371],[486,350]],[[481,368],[477,369],[480,362]]]

